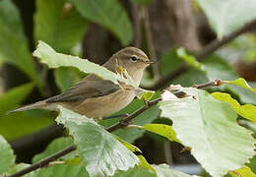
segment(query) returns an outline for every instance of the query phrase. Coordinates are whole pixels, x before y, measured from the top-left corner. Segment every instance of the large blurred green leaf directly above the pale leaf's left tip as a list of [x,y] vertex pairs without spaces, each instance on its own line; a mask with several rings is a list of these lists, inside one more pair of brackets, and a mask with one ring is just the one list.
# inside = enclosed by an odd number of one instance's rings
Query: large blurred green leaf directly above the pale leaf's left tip
[[65,0],[36,0],[35,41],[43,40],[55,50],[70,53],[82,40],[86,21]]

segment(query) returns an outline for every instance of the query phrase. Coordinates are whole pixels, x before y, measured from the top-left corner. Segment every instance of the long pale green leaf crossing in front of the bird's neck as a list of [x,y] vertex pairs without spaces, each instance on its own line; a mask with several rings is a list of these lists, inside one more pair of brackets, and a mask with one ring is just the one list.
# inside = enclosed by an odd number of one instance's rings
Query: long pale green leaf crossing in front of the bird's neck
[[121,75],[117,75],[102,66],[92,63],[87,59],[57,53],[43,41],[39,41],[36,50],[33,52],[33,56],[39,58],[40,62],[47,64],[49,68],[75,67],[84,73],[96,74],[96,76],[103,80],[109,80],[116,85],[118,85],[118,81],[120,81],[133,87],[138,87],[135,86],[134,82],[127,80]]

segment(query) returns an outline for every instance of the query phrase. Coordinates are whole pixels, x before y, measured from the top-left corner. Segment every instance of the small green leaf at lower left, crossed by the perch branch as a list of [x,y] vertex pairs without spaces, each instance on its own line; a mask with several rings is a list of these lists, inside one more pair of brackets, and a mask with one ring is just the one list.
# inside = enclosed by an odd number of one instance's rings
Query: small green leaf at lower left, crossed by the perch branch
[[[73,145],[73,140],[71,137],[61,137],[61,138],[55,139],[47,146],[47,148],[45,148],[43,150],[43,152],[34,155],[32,158],[32,162],[35,163],[42,158],[50,156],[53,153],[55,153],[59,150],[62,150],[64,148],[68,148],[72,145]],[[77,150],[72,151],[72,152],[62,156],[59,159],[66,160],[66,159],[72,158],[76,155],[77,155]]]

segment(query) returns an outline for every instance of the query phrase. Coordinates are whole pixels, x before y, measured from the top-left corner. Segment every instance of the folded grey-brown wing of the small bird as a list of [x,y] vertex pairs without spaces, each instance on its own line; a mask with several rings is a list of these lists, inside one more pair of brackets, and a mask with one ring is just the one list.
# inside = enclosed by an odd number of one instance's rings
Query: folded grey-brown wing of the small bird
[[65,92],[46,99],[50,102],[79,101],[90,97],[103,96],[119,89],[119,86],[110,81],[102,80],[95,75],[89,75],[76,86]]

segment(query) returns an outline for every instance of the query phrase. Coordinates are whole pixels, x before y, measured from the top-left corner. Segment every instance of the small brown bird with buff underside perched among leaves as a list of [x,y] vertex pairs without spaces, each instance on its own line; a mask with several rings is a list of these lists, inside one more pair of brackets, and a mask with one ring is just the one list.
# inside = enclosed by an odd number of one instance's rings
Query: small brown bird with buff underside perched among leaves
[[[126,47],[113,54],[103,67],[120,73],[124,69],[132,77],[136,85],[140,85],[143,71],[151,63],[148,56],[139,48]],[[96,75],[88,75],[76,86],[65,92],[49,97],[10,112],[30,109],[56,110],[57,105],[86,115],[96,120],[116,112],[128,105],[135,97],[134,89],[123,89],[110,81],[102,80]]]

